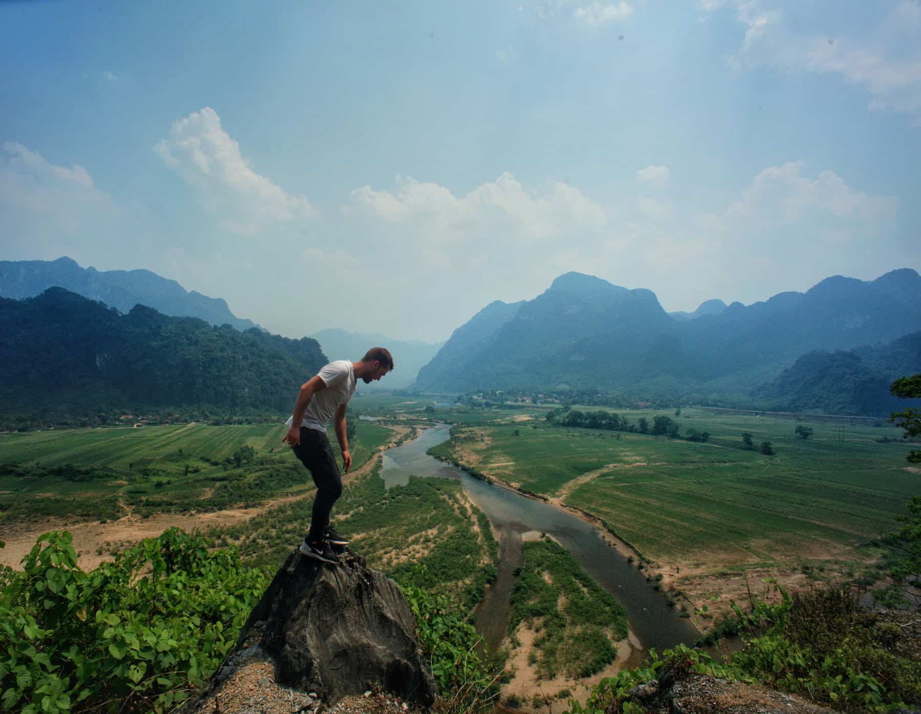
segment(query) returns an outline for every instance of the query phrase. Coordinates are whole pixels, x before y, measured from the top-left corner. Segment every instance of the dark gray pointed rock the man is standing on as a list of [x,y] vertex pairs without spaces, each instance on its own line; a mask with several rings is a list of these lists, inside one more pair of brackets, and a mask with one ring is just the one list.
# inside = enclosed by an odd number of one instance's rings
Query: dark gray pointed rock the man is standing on
[[238,648],[258,641],[280,685],[334,702],[379,682],[423,707],[437,685],[414,639],[415,620],[393,580],[348,549],[338,565],[295,551],[253,608]]

